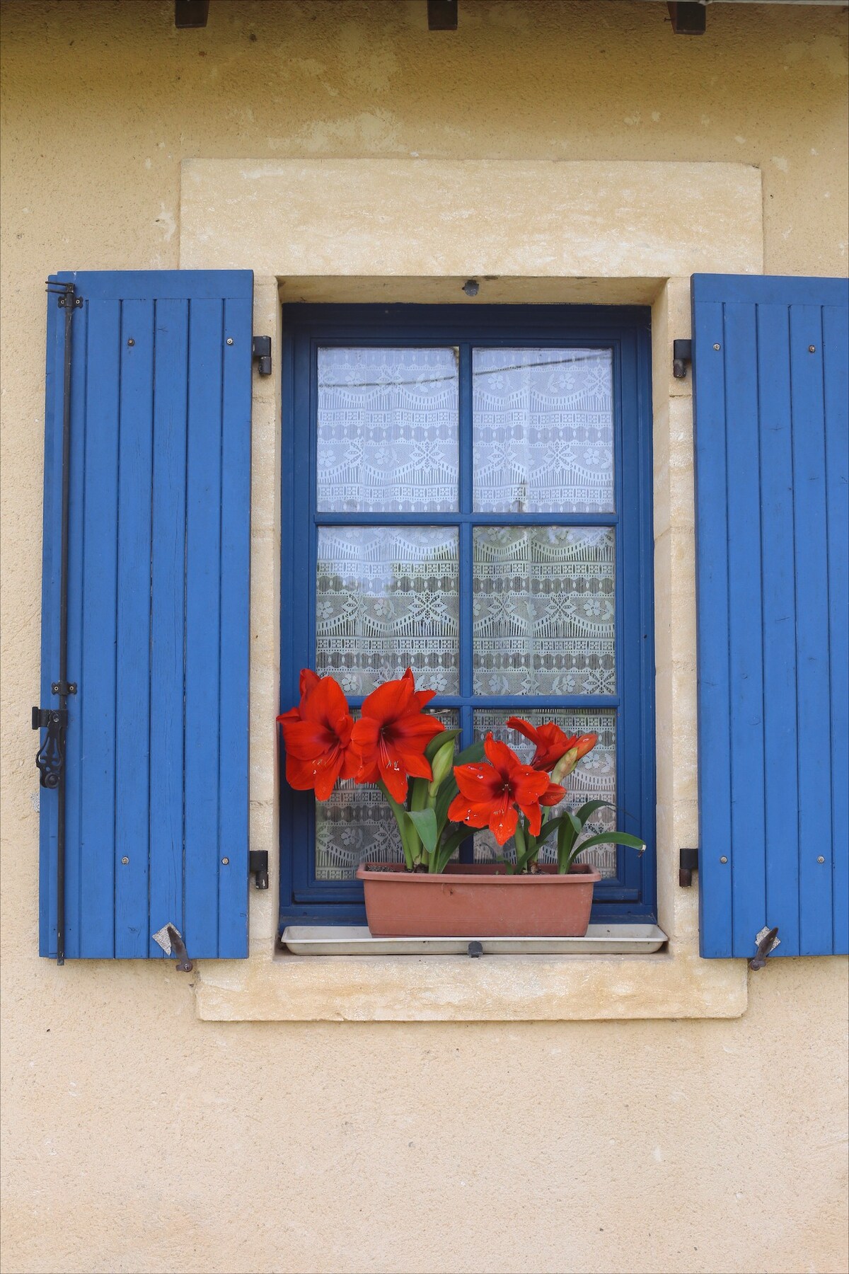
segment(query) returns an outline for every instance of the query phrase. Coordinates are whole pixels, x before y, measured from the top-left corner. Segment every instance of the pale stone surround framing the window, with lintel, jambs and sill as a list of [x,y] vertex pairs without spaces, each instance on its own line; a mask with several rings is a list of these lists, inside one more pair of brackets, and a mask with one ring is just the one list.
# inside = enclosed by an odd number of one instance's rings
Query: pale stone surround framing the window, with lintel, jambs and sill
[[[183,163],[182,269],[252,269],[271,377],[253,382],[251,561],[251,956],[204,963],[206,1020],[587,1020],[740,1017],[743,961],[703,961],[698,843],[689,276],[762,273],[760,171],[747,164],[426,159]],[[281,301],[652,306],[658,922],[657,956],[295,957],[279,952],[277,712]]]

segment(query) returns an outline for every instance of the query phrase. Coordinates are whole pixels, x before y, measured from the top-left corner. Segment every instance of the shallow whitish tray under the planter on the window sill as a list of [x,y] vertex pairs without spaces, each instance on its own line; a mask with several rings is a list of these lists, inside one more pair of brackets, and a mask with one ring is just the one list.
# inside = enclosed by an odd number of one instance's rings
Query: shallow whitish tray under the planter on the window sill
[[288,925],[293,956],[650,956],[667,940],[657,925],[591,925],[583,938],[372,938],[365,925]]

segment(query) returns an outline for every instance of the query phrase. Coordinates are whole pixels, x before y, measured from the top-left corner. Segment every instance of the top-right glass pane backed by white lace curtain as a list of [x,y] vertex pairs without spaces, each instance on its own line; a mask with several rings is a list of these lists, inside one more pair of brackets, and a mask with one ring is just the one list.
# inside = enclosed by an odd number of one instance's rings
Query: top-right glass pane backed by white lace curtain
[[610,349],[472,352],[475,510],[614,508]]

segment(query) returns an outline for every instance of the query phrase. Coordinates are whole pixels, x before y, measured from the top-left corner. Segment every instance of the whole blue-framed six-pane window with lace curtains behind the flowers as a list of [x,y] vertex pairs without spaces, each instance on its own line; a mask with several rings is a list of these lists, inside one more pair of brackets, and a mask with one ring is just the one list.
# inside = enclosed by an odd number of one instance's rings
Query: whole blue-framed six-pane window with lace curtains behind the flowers
[[[284,331],[283,707],[303,666],[354,711],[412,666],[461,747],[524,753],[512,715],[597,733],[572,799],[617,812],[587,834],[649,848],[589,851],[593,919],[653,917],[649,311],[286,306]],[[395,834],[377,791],[283,781],[283,924],[364,922],[354,873]]]

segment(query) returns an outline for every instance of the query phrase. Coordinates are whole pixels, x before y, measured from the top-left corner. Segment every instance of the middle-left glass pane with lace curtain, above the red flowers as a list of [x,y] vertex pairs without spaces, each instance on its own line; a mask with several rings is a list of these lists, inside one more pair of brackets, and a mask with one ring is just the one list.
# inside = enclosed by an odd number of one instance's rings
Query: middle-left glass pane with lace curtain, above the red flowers
[[412,668],[421,689],[457,693],[454,527],[322,527],[316,585],[319,675],[368,694]]

